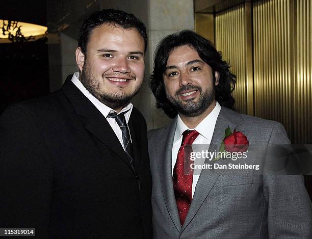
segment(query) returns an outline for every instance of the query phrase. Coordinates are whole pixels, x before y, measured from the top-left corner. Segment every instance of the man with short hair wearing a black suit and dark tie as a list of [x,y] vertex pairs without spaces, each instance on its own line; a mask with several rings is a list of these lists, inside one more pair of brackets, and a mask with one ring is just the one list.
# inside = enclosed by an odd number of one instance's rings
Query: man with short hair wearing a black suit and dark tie
[[130,102],[144,78],[145,25],[93,13],[61,90],[0,117],[0,225],[40,238],[151,238],[146,122]]

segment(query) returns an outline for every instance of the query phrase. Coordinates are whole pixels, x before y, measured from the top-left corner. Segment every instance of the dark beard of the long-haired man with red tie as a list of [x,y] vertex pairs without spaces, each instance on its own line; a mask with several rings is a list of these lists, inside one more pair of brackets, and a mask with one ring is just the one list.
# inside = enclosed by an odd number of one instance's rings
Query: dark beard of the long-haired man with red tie
[[[182,91],[188,90],[197,90],[199,91],[199,99],[195,101],[195,99],[187,99],[187,100],[180,100],[179,93]],[[210,105],[215,100],[215,92],[216,87],[213,84],[211,88],[208,88],[206,91],[202,91],[201,87],[199,86],[185,86],[177,90],[174,96],[170,96],[167,94],[168,101],[171,103],[173,108],[177,110],[178,113],[187,116],[187,117],[196,117],[201,115],[202,113],[207,110]]]

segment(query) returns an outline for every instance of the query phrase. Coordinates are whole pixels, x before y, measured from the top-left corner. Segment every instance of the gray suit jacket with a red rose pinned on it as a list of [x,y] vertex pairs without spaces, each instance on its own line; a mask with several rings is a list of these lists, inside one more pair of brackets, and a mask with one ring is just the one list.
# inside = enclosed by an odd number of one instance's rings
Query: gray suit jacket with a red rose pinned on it
[[[300,175],[212,175],[202,170],[181,227],[171,172],[176,122],[148,132],[154,238],[312,238],[312,205]],[[242,131],[250,145],[289,143],[280,123],[222,107],[211,145],[221,145],[228,126]]]

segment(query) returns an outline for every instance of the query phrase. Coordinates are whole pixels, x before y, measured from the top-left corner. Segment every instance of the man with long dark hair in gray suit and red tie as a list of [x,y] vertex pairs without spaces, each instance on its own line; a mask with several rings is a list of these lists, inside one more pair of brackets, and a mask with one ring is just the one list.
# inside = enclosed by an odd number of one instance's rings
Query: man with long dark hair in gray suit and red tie
[[192,31],[158,45],[150,86],[158,108],[174,120],[148,132],[154,238],[312,237],[301,176],[194,173],[192,144],[235,153],[247,153],[249,145],[289,144],[280,123],[229,109],[235,83],[221,53]]

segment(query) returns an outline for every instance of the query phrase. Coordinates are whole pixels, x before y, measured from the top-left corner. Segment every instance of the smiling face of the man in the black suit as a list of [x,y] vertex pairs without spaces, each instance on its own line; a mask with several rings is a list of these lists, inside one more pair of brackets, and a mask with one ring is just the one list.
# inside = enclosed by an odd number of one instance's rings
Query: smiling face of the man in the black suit
[[99,101],[120,111],[138,93],[144,78],[144,40],[135,29],[102,24],[86,48],[76,49],[80,81]]

